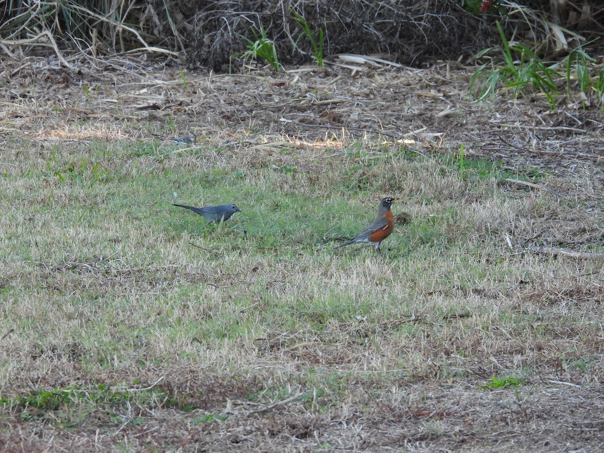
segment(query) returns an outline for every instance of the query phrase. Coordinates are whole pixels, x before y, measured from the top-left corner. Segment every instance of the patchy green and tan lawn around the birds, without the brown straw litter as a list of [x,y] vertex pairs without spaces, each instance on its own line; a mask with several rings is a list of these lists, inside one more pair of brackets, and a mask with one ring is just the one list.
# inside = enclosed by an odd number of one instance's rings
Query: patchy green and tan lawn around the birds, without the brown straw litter
[[[34,152],[14,140],[20,163],[0,178],[0,406],[11,423],[100,429],[118,448],[115,432],[159,420],[231,429],[280,411],[303,437],[309,420],[354,408],[426,420],[438,437],[451,392],[514,397],[538,392],[544,374],[597,379],[602,313],[585,301],[599,293],[569,288],[592,288],[601,266],[506,242],[543,231],[551,243],[552,219],[570,237],[601,225],[596,213],[578,233],[581,205],[498,185],[559,182],[547,172],[356,142],[318,160],[287,147],[259,159],[156,141]],[[410,220],[382,253],[334,252],[387,195]],[[242,213],[208,225],[173,202]],[[427,393],[412,400],[408,386]],[[440,402],[425,396],[437,388]]]

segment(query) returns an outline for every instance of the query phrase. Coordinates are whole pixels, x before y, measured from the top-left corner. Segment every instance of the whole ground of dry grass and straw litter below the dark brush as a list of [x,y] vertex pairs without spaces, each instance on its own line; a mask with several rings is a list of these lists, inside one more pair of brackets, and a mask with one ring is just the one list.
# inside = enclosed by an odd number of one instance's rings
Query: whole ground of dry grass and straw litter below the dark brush
[[[600,254],[599,112],[477,106],[445,65],[15,74],[3,451],[602,448],[602,263],[547,253]],[[461,178],[460,143],[502,162]],[[384,194],[410,217],[384,254],[330,251]],[[205,228],[175,197],[244,212]]]

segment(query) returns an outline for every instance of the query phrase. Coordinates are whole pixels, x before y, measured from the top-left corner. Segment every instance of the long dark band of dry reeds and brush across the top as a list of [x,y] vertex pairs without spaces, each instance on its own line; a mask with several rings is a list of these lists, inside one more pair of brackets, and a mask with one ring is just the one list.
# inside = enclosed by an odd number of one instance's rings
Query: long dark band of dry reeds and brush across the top
[[[420,0],[349,2],[259,0],[171,2],[127,0],[94,2],[15,0],[0,10],[0,47],[18,57],[51,48],[64,65],[65,51],[86,56],[163,52],[190,66],[228,69],[234,54],[245,52],[245,36],[264,28],[282,63],[308,62],[313,54],[297,18],[309,29],[323,30],[324,53],[388,54],[390,60],[419,65],[431,59],[471,57],[499,39],[495,21],[519,40],[539,43],[544,52],[565,50],[568,40],[604,33],[602,16],[585,0],[571,2],[509,0],[493,14],[476,14],[461,1]],[[2,8],[2,7],[0,7]]]

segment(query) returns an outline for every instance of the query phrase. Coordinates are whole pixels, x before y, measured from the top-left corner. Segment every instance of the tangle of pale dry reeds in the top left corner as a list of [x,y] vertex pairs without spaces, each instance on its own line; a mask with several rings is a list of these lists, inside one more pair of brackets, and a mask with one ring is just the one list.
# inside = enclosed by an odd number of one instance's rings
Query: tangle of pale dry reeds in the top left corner
[[[13,58],[50,48],[69,67],[66,51],[90,57],[184,51],[167,10],[158,10],[153,2],[16,0],[0,8],[0,48]],[[172,29],[169,35],[162,29],[164,22]]]

